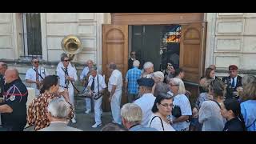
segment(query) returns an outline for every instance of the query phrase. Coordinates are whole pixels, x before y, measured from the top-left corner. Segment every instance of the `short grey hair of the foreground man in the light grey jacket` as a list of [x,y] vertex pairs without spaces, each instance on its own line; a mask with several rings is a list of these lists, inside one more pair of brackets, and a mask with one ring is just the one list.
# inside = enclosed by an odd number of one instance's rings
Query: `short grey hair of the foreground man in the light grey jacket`
[[70,105],[63,98],[55,98],[49,102],[47,110],[54,118],[67,118],[70,113]]

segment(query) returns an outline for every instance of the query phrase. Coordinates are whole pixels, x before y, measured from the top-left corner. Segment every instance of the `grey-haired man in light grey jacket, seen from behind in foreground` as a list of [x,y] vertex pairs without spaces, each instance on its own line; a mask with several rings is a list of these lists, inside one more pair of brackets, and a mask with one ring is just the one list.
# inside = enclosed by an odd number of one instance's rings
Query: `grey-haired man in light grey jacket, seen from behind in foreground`
[[67,126],[66,119],[70,114],[70,104],[64,98],[56,98],[50,101],[47,107],[47,118],[50,126],[38,131],[82,131],[74,127]]

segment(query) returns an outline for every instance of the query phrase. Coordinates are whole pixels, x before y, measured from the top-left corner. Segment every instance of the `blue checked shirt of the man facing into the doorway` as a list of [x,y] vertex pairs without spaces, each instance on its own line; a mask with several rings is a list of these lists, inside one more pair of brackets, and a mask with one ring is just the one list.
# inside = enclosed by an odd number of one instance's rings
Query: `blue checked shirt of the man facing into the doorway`
[[141,77],[142,70],[135,67],[128,70],[126,73],[126,82],[128,82],[128,92],[129,94],[138,94],[138,78]]

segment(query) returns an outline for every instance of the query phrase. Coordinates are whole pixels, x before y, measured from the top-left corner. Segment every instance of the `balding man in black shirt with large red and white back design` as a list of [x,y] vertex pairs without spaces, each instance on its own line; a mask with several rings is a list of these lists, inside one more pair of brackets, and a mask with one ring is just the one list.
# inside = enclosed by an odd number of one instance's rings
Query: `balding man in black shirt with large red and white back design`
[[18,70],[7,69],[5,73],[4,100],[0,103],[2,128],[7,131],[22,131],[26,126],[26,101],[28,92]]

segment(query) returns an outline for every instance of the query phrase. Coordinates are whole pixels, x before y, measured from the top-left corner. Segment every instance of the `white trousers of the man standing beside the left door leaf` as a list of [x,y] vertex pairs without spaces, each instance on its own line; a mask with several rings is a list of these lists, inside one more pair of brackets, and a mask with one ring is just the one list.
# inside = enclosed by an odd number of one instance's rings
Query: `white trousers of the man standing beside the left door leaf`
[[121,110],[120,110],[121,98],[122,98],[122,90],[115,91],[110,102],[111,112],[112,112],[114,122],[119,124],[122,124]]

